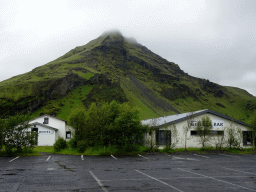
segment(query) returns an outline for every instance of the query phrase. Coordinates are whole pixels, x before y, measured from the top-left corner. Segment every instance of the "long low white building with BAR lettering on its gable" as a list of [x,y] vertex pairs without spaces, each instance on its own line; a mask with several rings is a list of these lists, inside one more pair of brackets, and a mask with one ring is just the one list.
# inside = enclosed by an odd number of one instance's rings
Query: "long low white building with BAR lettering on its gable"
[[[187,148],[200,148],[202,144],[195,129],[197,122],[206,115],[210,117],[212,123],[212,131],[206,146],[215,147],[218,142],[223,142],[222,146],[227,147],[224,141],[227,141],[227,130],[230,127],[235,131],[240,147],[252,145],[252,132],[248,124],[209,109],[141,121],[143,125],[154,127],[153,133],[145,136],[145,144],[149,145],[151,143],[152,145],[154,143],[156,147],[162,149],[167,142],[173,143],[176,141],[175,148],[184,148],[185,145]],[[171,131],[173,127],[176,128],[175,141]],[[222,141],[220,141],[220,138],[223,138]]]

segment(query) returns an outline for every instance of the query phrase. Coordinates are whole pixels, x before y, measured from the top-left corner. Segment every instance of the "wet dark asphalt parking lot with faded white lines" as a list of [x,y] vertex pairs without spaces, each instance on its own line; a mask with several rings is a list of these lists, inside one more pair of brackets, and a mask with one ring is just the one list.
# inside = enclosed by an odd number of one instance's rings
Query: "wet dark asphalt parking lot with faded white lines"
[[256,191],[256,156],[0,157],[0,191]]

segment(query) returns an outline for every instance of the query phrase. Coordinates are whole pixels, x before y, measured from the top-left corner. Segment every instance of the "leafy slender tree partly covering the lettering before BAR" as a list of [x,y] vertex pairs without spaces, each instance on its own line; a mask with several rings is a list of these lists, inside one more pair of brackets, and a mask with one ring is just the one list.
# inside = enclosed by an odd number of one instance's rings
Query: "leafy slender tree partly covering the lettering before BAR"
[[210,140],[210,135],[212,131],[212,121],[208,115],[205,115],[197,122],[196,132],[199,136],[199,141],[202,147],[205,147],[205,143]]

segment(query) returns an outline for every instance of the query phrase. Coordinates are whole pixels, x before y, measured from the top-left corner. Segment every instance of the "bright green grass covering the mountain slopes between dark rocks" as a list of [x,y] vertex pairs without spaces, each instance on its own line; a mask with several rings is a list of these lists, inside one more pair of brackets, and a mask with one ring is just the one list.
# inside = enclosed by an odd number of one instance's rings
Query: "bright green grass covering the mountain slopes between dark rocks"
[[[118,49],[112,49],[107,54],[103,53],[99,49],[94,49],[100,46],[102,41],[108,35],[114,42],[120,39],[120,36],[104,34],[99,38],[90,41],[86,45],[78,46],[70,50],[65,55],[49,62],[46,65],[37,67],[28,73],[0,82],[0,106],[11,109],[13,108],[13,105],[17,105],[17,101],[20,99],[24,99],[26,97],[35,98],[35,94],[38,95],[38,90],[42,90],[42,92],[48,90],[48,82],[64,78],[71,72],[76,73],[87,80],[93,77],[94,74],[106,73],[112,81],[115,80],[117,82],[119,82],[120,79],[125,81],[127,75],[132,74],[134,77],[138,78],[141,83],[147,86],[147,88],[154,91],[158,98],[165,100],[181,113],[208,108],[249,123],[250,118],[253,116],[253,110],[246,109],[246,106],[249,101],[256,106],[256,98],[248,94],[246,91],[234,87],[222,87],[225,95],[221,98],[215,97],[211,91],[214,92],[216,89],[213,88],[210,92],[202,89],[201,83],[205,82],[205,80],[201,80],[200,83],[198,79],[190,78],[188,75],[177,75],[176,72],[179,72],[177,64],[168,62],[140,46],[134,46],[125,42],[123,48],[127,51],[127,57],[136,56],[150,66],[154,66],[155,69],[159,69],[163,75],[179,77],[179,80],[173,80],[171,83],[162,83],[158,80],[159,76],[155,75],[152,70],[148,70],[145,66],[137,63],[136,61],[125,60],[124,56],[119,53]],[[109,42],[112,41],[110,39],[108,40]],[[77,63],[74,61],[77,61]],[[120,67],[120,63],[125,63],[125,65],[130,68],[124,70]],[[77,71],[77,69],[80,68],[84,70]],[[82,71],[88,72],[84,73]],[[181,92],[181,96],[178,96],[179,98],[175,101],[163,98],[161,92],[164,88],[168,88],[171,91],[171,88],[175,87],[174,83],[177,84],[177,87],[181,87],[179,90]],[[136,92],[135,89],[132,89],[132,86],[129,85],[128,79],[125,81],[127,87],[122,83],[120,84],[130,103],[141,109],[141,119],[171,115],[171,113],[165,112],[161,108],[154,107],[154,103],[147,100],[139,92]],[[189,95],[182,89],[183,85],[189,87],[192,92],[199,89],[202,92],[202,95],[200,95],[198,100],[196,100],[193,96]],[[92,86],[93,85],[91,85],[91,88]],[[83,90],[86,94],[83,93]],[[90,90],[88,88],[86,91],[86,88],[82,87],[81,91],[82,92],[78,93],[77,90],[73,90],[71,91],[73,92],[72,97],[68,94],[63,99],[53,101],[55,104],[60,105],[55,108],[57,112],[53,111],[53,114],[58,113],[57,117],[68,120],[68,114],[73,110],[72,108],[82,106],[83,102],[81,100],[85,99]],[[183,95],[185,96],[183,97]],[[25,100],[24,105],[21,105],[21,108],[31,102],[31,100]],[[216,103],[225,106],[225,108],[216,105]],[[47,106],[45,107],[47,108]],[[50,110],[45,109],[45,107],[39,109],[36,114],[39,115],[40,113],[48,112]]]

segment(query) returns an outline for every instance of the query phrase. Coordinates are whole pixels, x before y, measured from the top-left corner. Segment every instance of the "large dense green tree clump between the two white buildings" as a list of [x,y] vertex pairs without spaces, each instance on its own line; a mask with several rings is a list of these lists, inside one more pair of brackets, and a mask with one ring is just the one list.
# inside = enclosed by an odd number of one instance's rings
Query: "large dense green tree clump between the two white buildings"
[[78,141],[91,147],[133,145],[142,141],[146,132],[139,120],[139,111],[116,101],[98,106],[92,103],[87,111],[74,113],[70,124],[80,131],[76,134]]

